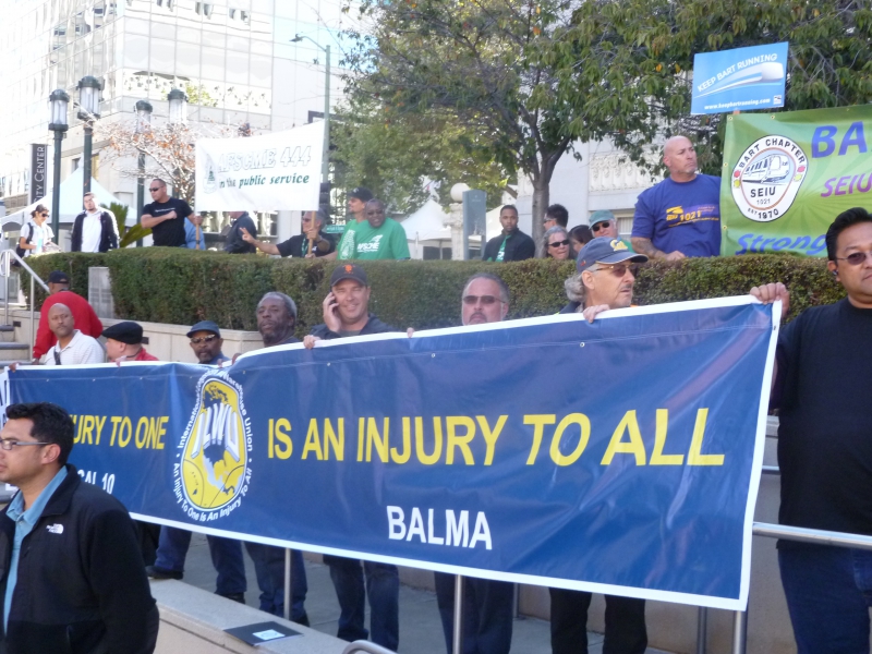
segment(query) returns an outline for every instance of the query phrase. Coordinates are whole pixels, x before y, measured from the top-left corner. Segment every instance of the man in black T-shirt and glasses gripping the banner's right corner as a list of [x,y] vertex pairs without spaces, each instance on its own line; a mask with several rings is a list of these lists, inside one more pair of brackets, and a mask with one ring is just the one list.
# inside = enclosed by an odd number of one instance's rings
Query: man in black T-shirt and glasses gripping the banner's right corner
[[[840,214],[826,232],[827,268],[847,298],[806,310],[778,339],[772,405],[779,409],[782,524],[872,535],[872,216]],[[762,301],[786,289],[754,289]],[[856,373],[856,374],[855,374]],[[799,654],[868,652],[872,552],[778,542]]]

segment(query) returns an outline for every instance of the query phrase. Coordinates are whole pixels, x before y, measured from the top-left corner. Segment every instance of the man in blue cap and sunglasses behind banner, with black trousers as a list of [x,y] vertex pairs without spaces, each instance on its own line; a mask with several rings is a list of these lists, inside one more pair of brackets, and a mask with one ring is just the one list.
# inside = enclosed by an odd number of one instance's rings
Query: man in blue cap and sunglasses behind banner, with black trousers
[[[630,306],[635,270],[646,261],[644,254],[631,252],[618,238],[593,239],[579,252],[578,274],[566,280],[570,303],[560,313],[583,313],[592,323],[598,313]],[[591,593],[566,589],[549,591],[552,652],[585,651]],[[647,646],[645,601],[613,595],[605,597],[608,618],[603,651],[642,654]]]

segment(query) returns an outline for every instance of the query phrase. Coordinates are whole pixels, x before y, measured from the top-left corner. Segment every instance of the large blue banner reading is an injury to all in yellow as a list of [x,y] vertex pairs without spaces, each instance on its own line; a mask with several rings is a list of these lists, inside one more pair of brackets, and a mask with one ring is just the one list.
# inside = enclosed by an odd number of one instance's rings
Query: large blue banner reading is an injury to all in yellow
[[732,298],[283,346],[221,370],[26,366],[9,395],[64,405],[71,462],[142,520],[736,609],[776,336],[773,307]]

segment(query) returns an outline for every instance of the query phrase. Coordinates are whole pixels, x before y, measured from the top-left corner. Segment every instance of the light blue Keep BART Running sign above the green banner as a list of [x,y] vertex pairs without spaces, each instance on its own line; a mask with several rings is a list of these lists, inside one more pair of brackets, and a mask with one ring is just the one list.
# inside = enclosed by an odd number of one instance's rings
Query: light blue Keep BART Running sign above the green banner
[[784,107],[787,46],[785,41],[697,55],[690,112]]

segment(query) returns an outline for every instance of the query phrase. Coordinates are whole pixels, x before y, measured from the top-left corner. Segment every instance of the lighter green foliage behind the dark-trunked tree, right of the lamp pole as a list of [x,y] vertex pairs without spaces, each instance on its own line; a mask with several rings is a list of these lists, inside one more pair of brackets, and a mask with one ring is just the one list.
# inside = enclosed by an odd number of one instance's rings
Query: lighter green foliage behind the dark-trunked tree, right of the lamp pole
[[[331,130],[339,186],[366,186],[391,211],[420,208],[436,189],[447,207],[451,185],[464,182],[498,204],[507,187],[506,170],[474,143],[450,114],[388,113],[372,96],[352,96],[336,114]],[[428,181],[428,189],[424,181]]]

